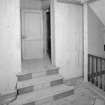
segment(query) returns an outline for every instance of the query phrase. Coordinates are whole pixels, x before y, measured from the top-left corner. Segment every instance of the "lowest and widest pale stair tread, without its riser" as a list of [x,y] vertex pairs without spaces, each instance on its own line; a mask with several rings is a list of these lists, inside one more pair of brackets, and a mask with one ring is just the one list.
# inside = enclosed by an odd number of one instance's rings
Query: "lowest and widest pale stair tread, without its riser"
[[74,89],[73,86],[66,86],[64,84],[56,87],[49,87],[47,89],[42,89],[42,90],[27,93],[27,94],[19,95],[17,97],[17,100],[15,100],[11,105],[21,105],[27,102],[41,100],[73,89]]

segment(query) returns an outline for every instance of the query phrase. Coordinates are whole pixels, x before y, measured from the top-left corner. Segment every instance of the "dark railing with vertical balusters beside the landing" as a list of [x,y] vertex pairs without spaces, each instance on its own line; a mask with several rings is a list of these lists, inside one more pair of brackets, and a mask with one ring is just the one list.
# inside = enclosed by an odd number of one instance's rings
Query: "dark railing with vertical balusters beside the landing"
[[105,90],[105,58],[88,54],[88,81]]

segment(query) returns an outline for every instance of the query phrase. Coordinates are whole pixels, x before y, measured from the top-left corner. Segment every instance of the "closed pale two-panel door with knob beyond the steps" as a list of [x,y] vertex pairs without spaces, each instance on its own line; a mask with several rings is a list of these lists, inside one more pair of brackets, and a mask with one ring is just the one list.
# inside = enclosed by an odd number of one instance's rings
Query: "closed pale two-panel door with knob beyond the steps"
[[22,12],[22,57],[40,59],[43,57],[41,11],[25,10]]

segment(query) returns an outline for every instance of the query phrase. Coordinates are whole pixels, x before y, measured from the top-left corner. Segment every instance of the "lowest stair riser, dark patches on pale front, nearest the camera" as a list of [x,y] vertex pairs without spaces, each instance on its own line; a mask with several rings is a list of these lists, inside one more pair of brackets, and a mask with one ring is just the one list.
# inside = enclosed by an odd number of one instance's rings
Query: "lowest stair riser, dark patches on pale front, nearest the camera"
[[66,92],[61,92],[59,94],[55,94],[54,96],[51,96],[51,97],[48,97],[48,98],[45,98],[45,99],[29,102],[29,103],[22,104],[22,105],[47,105],[48,103],[53,103],[55,101],[58,101],[60,99],[70,97],[70,96],[73,96],[73,95],[74,95],[74,90],[69,90],[69,91],[66,91]]

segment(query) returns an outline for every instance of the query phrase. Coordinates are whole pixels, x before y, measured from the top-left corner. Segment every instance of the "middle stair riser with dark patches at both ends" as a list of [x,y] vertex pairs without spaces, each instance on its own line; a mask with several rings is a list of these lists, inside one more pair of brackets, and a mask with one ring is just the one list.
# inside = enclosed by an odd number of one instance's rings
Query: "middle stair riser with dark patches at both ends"
[[18,89],[18,94],[26,94],[26,93],[29,93],[29,92],[37,91],[39,89],[54,87],[54,86],[58,86],[58,85],[61,85],[61,84],[63,84],[63,79],[54,80],[54,81],[51,81],[49,83],[38,84],[38,85],[35,85],[35,86],[28,86],[28,87],[25,87],[25,88]]

